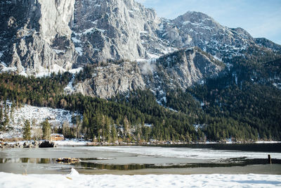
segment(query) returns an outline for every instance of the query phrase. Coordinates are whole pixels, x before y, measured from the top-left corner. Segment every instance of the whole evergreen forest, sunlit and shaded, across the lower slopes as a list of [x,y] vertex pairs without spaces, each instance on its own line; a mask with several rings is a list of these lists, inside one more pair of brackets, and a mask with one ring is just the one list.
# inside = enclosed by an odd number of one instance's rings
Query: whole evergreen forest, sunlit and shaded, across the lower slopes
[[[2,73],[1,101],[9,99],[16,107],[31,104],[77,111],[83,115],[81,122],[75,128],[63,125],[58,132],[99,142],[280,140],[281,93],[268,79],[280,75],[280,60],[272,61],[269,55],[263,60],[254,56],[230,59],[231,69],[220,77],[186,91],[166,89],[164,106],[157,104],[150,90],[118,94],[108,101],[65,95],[63,88],[71,79],[68,73],[42,78]],[[91,77],[91,71],[86,67],[77,80]],[[1,107],[2,127],[7,126],[4,116]]]

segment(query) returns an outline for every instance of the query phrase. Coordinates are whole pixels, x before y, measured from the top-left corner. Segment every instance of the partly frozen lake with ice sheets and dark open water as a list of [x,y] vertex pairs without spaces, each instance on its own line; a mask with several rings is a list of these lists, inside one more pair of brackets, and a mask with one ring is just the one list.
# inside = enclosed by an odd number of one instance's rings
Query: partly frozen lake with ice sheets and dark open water
[[[259,144],[259,147],[263,146],[266,145]],[[92,175],[203,173],[281,175],[281,152],[278,147],[275,151],[227,150],[227,145],[223,150],[200,147],[59,146],[49,149],[2,149],[0,172],[67,174],[71,168],[75,168],[81,174]],[[268,154],[273,158],[272,165],[268,164]],[[67,157],[80,158],[81,161],[73,164],[55,161],[57,158]]]

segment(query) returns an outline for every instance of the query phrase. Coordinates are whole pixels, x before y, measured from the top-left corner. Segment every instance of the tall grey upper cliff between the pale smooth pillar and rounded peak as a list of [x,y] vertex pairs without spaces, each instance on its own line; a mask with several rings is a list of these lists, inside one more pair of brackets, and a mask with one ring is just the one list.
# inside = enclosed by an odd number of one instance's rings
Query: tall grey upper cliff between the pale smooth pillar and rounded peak
[[133,0],[77,0],[74,35],[80,63],[150,58],[167,45],[156,35],[155,11]]

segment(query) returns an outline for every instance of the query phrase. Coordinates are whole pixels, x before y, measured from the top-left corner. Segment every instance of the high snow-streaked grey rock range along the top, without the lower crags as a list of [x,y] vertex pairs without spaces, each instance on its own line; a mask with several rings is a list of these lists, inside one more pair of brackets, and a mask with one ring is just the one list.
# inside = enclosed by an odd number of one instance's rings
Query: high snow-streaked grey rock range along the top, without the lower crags
[[192,46],[219,59],[241,56],[249,46],[259,46],[256,42],[275,46],[261,39],[255,42],[245,30],[224,27],[200,12],[159,19],[154,10],[134,0],[40,0],[24,6],[22,1],[4,2],[0,61],[18,68],[18,73],[159,58]]

